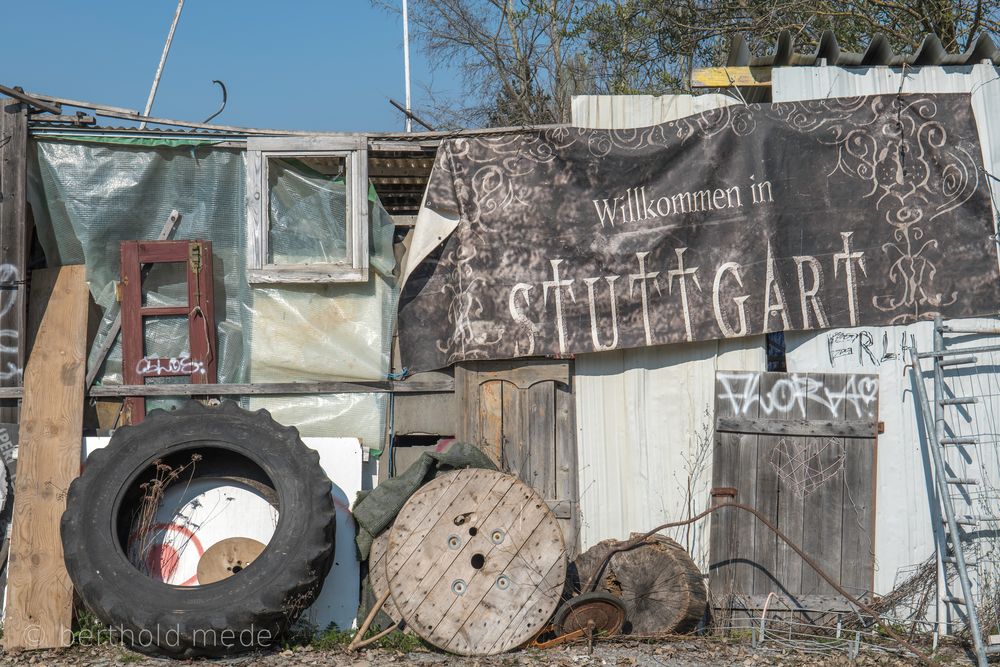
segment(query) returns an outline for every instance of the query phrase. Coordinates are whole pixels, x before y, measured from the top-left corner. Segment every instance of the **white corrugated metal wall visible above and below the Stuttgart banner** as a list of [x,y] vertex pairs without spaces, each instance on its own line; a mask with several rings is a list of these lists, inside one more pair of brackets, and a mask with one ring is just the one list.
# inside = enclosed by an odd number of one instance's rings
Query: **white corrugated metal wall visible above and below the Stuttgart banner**
[[[963,68],[885,67],[780,68],[773,72],[773,99],[793,101],[877,93],[971,92],[980,127],[987,171],[1000,166],[1000,71],[992,65]],[[718,105],[739,103],[720,95],[691,97],[591,96],[573,101],[573,123],[583,127],[641,127],[699,113]],[[987,109],[993,110],[992,115]],[[1000,193],[1000,188],[994,188]],[[1000,201],[995,200],[995,204]],[[997,306],[992,306],[996,308]],[[998,308],[1000,309],[1000,308]],[[1000,326],[1000,320],[979,321]],[[906,374],[904,341],[917,336],[930,349],[932,327],[866,327],[788,334],[790,372],[878,372],[881,379],[880,420],[885,433],[878,441],[876,576],[879,593],[888,592],[907,570],[934,551],[923,451],[912,387]],[[1000,338],[967,336],[963,346],[1000,342]],[[854,349],[850,346],[854,345]],[[848,349],[850,352],[843,352]],[[843,356],[833,357],[840,351]],[[580,461],[580,504],[583,548],[608,537],[622,537],[705,507],[711,481],[711,453],[699,461],[700,442],[711,436],[714,372],[764,370],[762,337],[721,343],[671,345],[642,350],[580,355],[577,358],[577,415]],[[956,430],[1000,439],[1000,356],[987,360],[979,373],[954,382],[963,392],[986,400],[975,413],[957,413]],[[961,394],[960,394],[961,395]],[[710,441],[709,441],[710,442]],[[991,480],[973,506],[1000,515],[1000,457],[982,452],[968,465],[981,469],[970,476]],[[990,458],[992,456],[992,458]],[[689,477],[695,471],[689,491]],[[959,508],[959,511],[963,510]],[[691,539],[699,564],[707,557],[707,524]],[[682,541],[684,533],[677,537]],[[988,559],[987,559],[988,560]]]

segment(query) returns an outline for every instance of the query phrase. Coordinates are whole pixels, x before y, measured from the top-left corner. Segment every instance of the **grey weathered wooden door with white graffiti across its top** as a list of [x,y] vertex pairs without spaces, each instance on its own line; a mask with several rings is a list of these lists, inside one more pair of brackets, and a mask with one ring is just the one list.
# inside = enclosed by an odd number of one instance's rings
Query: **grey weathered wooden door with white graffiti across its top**
[[[874,577],[878,377],[718,372],[713,502],[762,512],[848,592]],[[712,515],[710,586],[719,608],[768,594],[813,610],[846,601],[749,513]]]

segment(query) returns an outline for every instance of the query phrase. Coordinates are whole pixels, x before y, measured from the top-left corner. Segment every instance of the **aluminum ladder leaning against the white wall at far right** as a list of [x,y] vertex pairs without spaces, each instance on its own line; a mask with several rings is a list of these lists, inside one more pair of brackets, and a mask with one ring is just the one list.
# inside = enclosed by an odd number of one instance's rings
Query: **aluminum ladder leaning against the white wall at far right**
[[[945,392],[946,386],[944,381],[944,369],[964,364],[975,364],[977,361],[974,356],[975,353],[1000,352],[1000,346],[993,345],[948,350],[946,349],[944,338],[946,333],[996,334],[1000,333],[1000,331],[956,329],[945,326],[939,316],[934,320],[934,349],[929,352],[919,352],[917,349],[916,337],[912,334],[910,335],[910,355],[912,360],[912,363],[910,364],[910,372],[913,378],[913,384],[917,391],[918,399],[923,406],[921,413],[923,414],[924,420],[924,439],[925,444],[927,445],[927,450],[931,454],[931,460],[933,461],[930,474],[937,489],[939,501],[938,508],[943,514],[942,517],[936,518],[935,520],[940,520],[945,528],[942,540],[943,553],[939,553],[940,566],[942,571],[945,573],[945,576],[942,578],[942,584],[945,589],[948,588],[947,573],[949,568],[953,568],[958,576],[958,581],[961,587],[960,595],[946,594],[941,601],[965,607],[965,616],[969,627],[969,633],[972,635],[977,662],[980,667],[986,667],[987,657],[989,655],[1000,653],[1000,646],[987,647],[983,642],[979,615],[976,610],[976,602],[972,592],[972,581],[969,578],[969,563],[965,554],[966,547],[963,544],[963,534],[960,526],[975,525],[981,520],[995,521],[996,518],[958,516],[955,512],[952,489],[964,489],[966,487],[974,486],[978,483],[978,480],[949,474],[948,468],[946,467],[944,449],[946,447],[956,445],[976,445],[978,442],[975,437],[946,435],[946,412],[953,406],[976,404],[979,402],[979,398],[975,396],[947,398]],[[933,362],[933,401],[928,398],[927,389],[924,386],[922,373],[923,369],[921,366],[921,360],[923,359],[931,359]],[[971,497],[971,494],[969,495]],[[937,531],[935,531],[935,533],[937,533]]]

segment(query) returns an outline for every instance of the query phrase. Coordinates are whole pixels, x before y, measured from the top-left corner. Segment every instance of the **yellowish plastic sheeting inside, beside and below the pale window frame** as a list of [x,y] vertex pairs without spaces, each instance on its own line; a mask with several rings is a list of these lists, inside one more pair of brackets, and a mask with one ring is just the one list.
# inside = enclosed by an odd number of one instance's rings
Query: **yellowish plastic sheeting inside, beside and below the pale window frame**
[[[273,171],[273,166],[269,169]],[[307,169],[283,169],[271,183],[271,231],[281,237],[276,254],[314,261],[335,261],[337,239],[343,244],[347,199],[343,181]],[[282,202],[276,205],[275,199]],[[389,372],[396,280],[392,275],[393,222],[374,190],[368,194],[369,265],[367,283],[282,285],[253,289],[251,332],[253,382],[384,380]],[[281,222],[276,222],[280,220]],[[297,226],[295,234],[277,229]],[[330,236],[339,227],[340,236]],[[333,238],[323,246],[316,239]],[[273,245],[273,244],[272,244]],[[317,250],[319,248],[319,250]],[[360,438],[365,447],[382,449],[385,437],[384,394],[267,396],[250,399],[284,424],[306,436]],[[345,430],[346,429],[346,430]]]

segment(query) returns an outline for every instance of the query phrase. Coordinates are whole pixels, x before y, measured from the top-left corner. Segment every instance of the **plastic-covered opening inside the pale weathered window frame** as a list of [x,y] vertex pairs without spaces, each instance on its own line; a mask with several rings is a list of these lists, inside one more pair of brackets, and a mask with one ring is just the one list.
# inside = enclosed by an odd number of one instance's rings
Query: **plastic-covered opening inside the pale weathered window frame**
[[347,262],[346,158],[269,158],[267,174],[267,262]]

